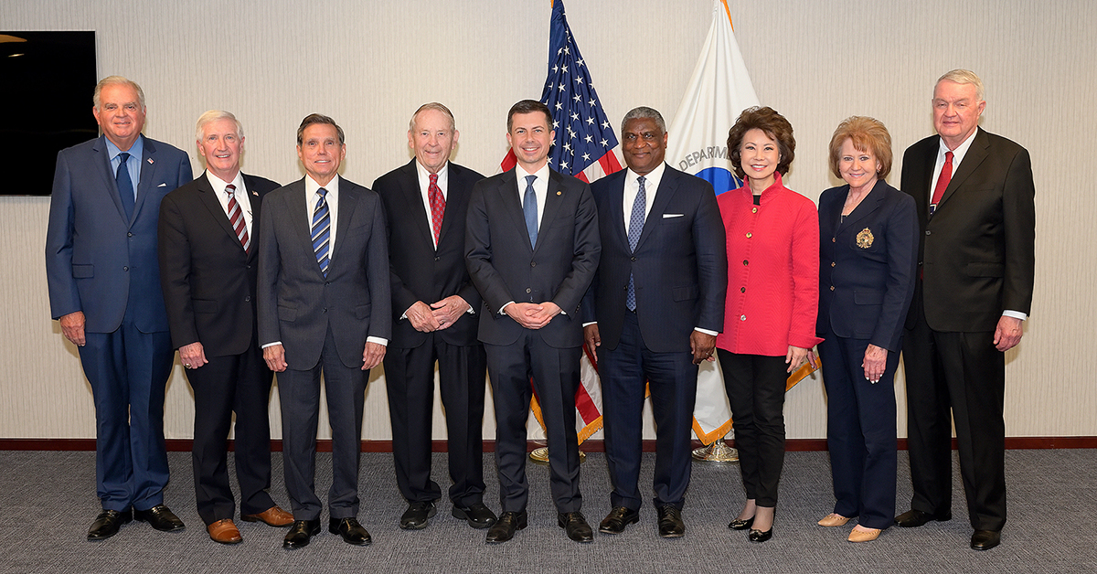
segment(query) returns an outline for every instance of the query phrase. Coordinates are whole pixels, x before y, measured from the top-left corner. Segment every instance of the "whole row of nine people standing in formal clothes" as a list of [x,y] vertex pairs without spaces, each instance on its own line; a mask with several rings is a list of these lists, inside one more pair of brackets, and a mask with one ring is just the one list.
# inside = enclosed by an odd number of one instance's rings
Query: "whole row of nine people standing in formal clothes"
[[[490,178],[449,160],[460,137],[453,114],[428,103],[409,122],[415,158],[366,189],[339,176],[344,134],[324,115],[297,130],[306,176],[279,187],[240,172],[240,122],[206,112],[196,126],[206,171],[192,181],[184,153],[140,134],[136,83],[105,78],[93,100],[103,135],[58,155],[46,241],[52,313],[78,346],[95,402],[102,511],[89,540],[134,518],[183,528],[162,497],[165,385],[178,349],[195,398],[199,515],[217,542],[242,540],[225,440],[234,413],[240,519],[290,526],[286,549],[319,533],[321,373],[329,531],[371,542],[357,520],[358,472],[365,385],[381,363],[408,502],[400,528],[427,527],[442,496],[430,476],[437,364],[452,516],[488,529],[488,543],[525,528],[525,421],[536,393],[557,524],[590,542],[574,408],[586,342],[598,353],[613,486],[603,533],[640,520],[649,387],[658,533],[683,536],[698,365],[715,354],[746,494],[728,527],[770,539],[785,379],[815,363],[817,345],[837,498],[819,525],[856,517],[849,540],[867,541],[893,522],[949,519],[951,410],[971,547],[999,541],[1002,351],[1019,341],[1031,302],[1033,184],[1027,151],[977,128],[985,102],[970,71],[938,80],[938,135],[907,150],[902,192],[884,181],[883,124],[842,122],[830,169],[846,185],[823,192],[818,210],[782,183],[795,140],[769,108],[746,110],[732,126],[728,156],[744,185],[717,196],[664,161],[667,128],[651,108],[622,121],[627,169],[588,185],[548,166],[554,122],[543,103],[510,109],[517,166]],[[915,496],[894,517],[901,351]],[[268,492],[273,373],[292,511]],[[483,500],[485,374],[498,516]]]

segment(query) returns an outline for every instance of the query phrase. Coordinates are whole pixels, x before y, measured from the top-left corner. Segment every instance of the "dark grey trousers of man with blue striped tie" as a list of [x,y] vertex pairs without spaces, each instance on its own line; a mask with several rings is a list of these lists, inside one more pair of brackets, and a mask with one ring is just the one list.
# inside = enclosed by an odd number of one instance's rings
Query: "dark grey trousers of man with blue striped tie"
[[[364,344],[363,344],[364,345]],[[358,516],[358,463],[362,452],[362,405],[370,372],[339,360],[331,327],[320,360],[312,369],[278,374],[282,403],[282,460],[294,520],[316,520],[323,504],[316,496],[316,426],[320,410],[320,372],[331,424],[331,488],[328,516]]]

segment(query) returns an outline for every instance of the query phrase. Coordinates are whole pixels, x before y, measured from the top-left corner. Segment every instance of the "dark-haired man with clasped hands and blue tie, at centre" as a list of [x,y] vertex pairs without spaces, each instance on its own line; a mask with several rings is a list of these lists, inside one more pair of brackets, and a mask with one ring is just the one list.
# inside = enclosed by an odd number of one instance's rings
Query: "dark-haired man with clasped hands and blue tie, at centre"
[[501,515],[487,542],[525,528],[525,421],[530,379],[548,438],[557,524],[568,538],[593,540],[579,509],[575,392],[583,328],[579,307],[601,251],[590,187],[548,168],[555,132],[543,103],[522,100],[507,114],[518,165],[473,188],[465,229],[468,273],[484,297],[479,340],[487,351],[496,418]]

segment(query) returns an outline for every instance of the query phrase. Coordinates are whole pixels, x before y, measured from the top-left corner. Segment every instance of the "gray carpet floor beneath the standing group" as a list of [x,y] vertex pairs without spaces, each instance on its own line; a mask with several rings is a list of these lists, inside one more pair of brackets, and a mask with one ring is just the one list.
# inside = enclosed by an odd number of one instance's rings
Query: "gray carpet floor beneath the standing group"
[[[815,520],[830,511],[833,498],[827,454],[792,452],[785,459],[773,539],[747,542],[745,532],[727,529],[743,503],[737,465],[694,464],[683,518],[687,533],[663,540],[655,511],[617,537],[598,536],[592,544],[567,540],[556,526],[548,496],[548,472],[529,464],[530,526],[501,545],[485,545],[484,530],[473,530],[439,514],[421,531],[403,531],[397,519],[405,504],[396,489],[392,455],[362,455],[359,519],[373,544],[344,544],[326,529],[307,548],[284,551],[284,529],[240,522],[244,543],[212,542],[194,510],[190,453],[170,453],[173,481],[166,502],[186,522],[182,532],[157,532],[133,522],[102,542],[88,542],[98,513],[92,452],[0,452],[0,573],[144,572],[536,572],[536,573],[799,573],[799,572],[1097,572],[1097,450],[1018,450],[1006,453],[1009,524],[1003,544],[987,552],[968,548],[971,529],[959,479],[953,519],[923,528],[885,530],[864,544],[846,542],[852,522],[821,528]],[[274,498],[287,506],[274,454]],[[642,483],[651,484],[653,454],[644,459]],[[434,455],[434,476],[445,484],[445,454]],[[495,462],[485,455],[485,502],[498,509]],[[317,457],[317,491],[330,484],[330,454]],[[911,496],[906,453],[900,453],[898,509]],[[443,486],[444,489],[444,486]],[[597,522],[609,510],[606,459],[588,455],[583,465],[585,513]],[[321,496],[323,498],[324,496]]]

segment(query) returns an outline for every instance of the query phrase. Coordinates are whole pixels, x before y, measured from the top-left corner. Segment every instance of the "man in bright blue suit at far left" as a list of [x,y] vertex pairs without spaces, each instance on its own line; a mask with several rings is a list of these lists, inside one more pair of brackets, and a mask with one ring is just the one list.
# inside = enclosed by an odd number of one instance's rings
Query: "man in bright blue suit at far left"
[[95,488],[102,540],[136,518],[183,522],[163,505],[163,395],[173,350],[160,292],[160,201],[192,179],[186,154],[142,135],[145,93],[121,76],[95,86],[103,135],[57,154],[46,275],[50,313],[80,352],[95,401]]

